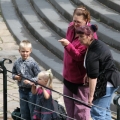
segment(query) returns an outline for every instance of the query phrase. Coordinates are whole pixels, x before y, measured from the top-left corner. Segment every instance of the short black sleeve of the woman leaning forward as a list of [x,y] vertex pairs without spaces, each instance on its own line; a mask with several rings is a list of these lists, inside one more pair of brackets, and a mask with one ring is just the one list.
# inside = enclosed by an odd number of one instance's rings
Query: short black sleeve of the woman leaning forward
[[86,68],[88,77],[97,78],[99,75],[99,56],[91,54],[86,61]]

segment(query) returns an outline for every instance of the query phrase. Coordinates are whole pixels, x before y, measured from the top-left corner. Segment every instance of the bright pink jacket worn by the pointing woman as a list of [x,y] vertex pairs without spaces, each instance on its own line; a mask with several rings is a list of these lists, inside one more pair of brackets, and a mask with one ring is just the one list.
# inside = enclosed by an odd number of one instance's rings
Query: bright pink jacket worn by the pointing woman
[[[63,77],[69,82],[80,84],[83,83],[86,74],[83,62],[87,47],[81,45],[78,37],[74,38],[74,34],[73,22],[71,22],[66,34],[66,39],[70,43],[64,48]],[[96,33],[94,38],[97,39]]]

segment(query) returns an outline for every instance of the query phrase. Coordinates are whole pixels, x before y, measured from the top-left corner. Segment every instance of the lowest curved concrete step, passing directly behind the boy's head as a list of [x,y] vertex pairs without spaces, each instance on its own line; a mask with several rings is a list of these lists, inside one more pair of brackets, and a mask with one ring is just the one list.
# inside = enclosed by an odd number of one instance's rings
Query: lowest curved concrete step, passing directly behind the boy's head
[[[28,32],[28,30],[25,28],[18,15],[16,14],[12,1],[1,0],[1,11],[8,29],[17,40],[17,42],[19,43],[24,39],[28,39],[33,45],[32,56],[34,57],[34,59],[45,69],[51,68],[54,76],[62,81],[62,60],[60,60],[58,57],[52,54],[51,51],[42,46],[40,42],[38,42],[38,40],[36,40]],[[28,16],[30,14],[31,13],[29,13]]]

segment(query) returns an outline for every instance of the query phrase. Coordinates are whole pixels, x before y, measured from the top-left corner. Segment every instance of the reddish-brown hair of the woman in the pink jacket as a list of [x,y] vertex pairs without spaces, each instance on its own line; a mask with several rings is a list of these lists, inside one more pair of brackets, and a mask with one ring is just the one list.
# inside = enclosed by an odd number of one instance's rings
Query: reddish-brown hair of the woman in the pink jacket
[[84,19],[87,19],[87,22],[90,22],[91,18],[90,18],[90,12],[86,9],[85,6],[81,5],[79,7],[77,7],[74,12],[73,12],[73,16],[77,15],[77,16],[81,16],[83,15]]

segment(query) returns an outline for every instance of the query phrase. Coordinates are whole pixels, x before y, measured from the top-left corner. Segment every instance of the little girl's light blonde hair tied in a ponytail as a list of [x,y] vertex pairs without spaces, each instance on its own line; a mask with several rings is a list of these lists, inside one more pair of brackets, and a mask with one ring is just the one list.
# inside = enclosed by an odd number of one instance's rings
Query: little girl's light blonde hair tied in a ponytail
[[46,87],[51,88],[52,89],[52,79],[53,79],[53,74],[51,69],[47,70],[47,71],[41,71],[38,74],[38,78],[43,77],[43,79],[48,80]]

